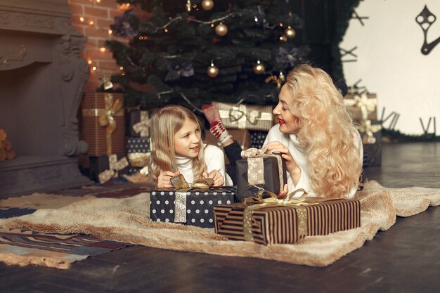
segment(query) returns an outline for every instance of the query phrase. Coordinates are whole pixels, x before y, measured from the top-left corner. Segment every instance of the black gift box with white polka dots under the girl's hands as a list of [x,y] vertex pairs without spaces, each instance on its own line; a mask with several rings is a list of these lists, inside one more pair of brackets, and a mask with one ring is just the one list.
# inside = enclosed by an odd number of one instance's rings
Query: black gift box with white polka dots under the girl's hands
[[186,223],[202,228],[214,228],[214,206],[235,202],[235,186],[209,189],[153,190],[150,219],[171,223]]

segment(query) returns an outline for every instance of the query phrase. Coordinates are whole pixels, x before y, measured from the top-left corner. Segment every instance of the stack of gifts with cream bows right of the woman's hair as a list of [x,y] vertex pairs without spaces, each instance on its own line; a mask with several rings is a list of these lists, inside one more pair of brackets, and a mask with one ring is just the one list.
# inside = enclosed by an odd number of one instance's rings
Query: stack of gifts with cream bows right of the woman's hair
[[347,93],[344,103],[361,134],[363,167],[382,164],[382,122],[377,120],[377,98],[374,93]]

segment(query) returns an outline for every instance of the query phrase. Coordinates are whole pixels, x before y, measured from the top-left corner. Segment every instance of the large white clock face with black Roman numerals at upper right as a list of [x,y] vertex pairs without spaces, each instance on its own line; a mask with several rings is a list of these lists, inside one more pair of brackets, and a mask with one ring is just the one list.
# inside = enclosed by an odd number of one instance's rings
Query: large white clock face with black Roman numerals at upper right
[[[440,44],[428,54],[420,51],[423,32],[415,18],[427,5],[436,21],[427,33],[430,43],[440,37],[440,0],[364,0],[356,8],[361,22],[351,19],[339,48],[353,52],[357,62],[344,62],[344,77],[351,86],[362,79],[370,93],[377,93],[377,115],[382,108],[401,116],[395,129],[405,134],[422,134],[419,117],[425,127],[436,117],[440,134]],[[344,56],[344,59],[352,59]],[[388,128],[390,119],[384,123]],[[433,132],[433,122],[429,133]]]

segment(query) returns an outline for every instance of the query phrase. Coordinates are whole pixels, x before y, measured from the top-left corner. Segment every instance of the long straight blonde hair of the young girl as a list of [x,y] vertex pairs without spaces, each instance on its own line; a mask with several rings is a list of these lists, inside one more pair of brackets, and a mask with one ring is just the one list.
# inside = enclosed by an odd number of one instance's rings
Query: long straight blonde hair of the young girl
[[[148,174],[153,182],[157,182],[160,171],[178,171],[176,152],[174,150],[174,134],[179,131],[186,119],[200,123],[194,113],[179,105],[168,105],[157,110],[151,119],[151,161]],[[203,159],[204,146],[200,139],[200,151],[198,157],[193,158],[194,178],[201,178],[206,171],[205,159]]]

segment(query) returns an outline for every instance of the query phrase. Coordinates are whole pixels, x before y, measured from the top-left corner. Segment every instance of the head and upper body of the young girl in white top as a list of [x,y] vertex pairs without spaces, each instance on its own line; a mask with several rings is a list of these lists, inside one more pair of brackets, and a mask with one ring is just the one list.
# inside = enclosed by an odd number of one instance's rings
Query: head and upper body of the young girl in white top
[[213,186],[230,185],[224,153],[200,138],[200,124],[193,112],[178,105],[157,110],[151,120],[149,174],[157,188],[172,188],[170,178],[183,174],[188,183],[212,178]]

